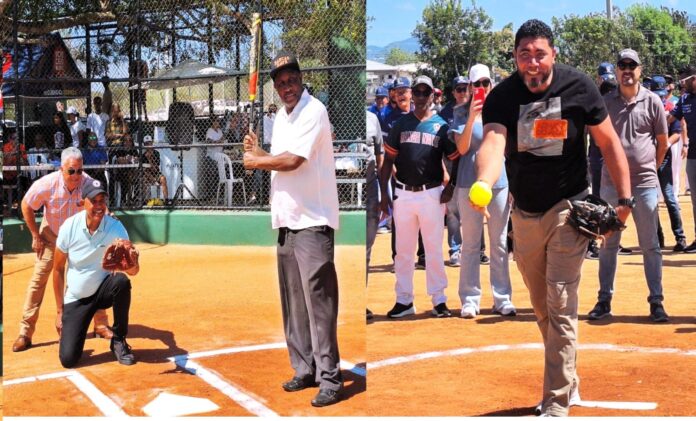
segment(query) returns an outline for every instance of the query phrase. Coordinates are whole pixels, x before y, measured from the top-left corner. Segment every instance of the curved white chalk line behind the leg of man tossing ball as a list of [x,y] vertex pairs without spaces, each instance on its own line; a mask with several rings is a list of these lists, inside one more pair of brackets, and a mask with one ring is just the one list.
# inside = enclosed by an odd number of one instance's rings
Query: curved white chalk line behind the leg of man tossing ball
[[[527,343],[514,345],[489,345],[478,348],[457,348],[447,351],[429,351],[419,354],[405,355],[394,358],[387,358],[381,361],[373,361],[367,363],[367,371],[374,370],[390,365],[405,364],[414,361],[427,360],[432,358],[453,357],[458,355],[467,355],[483,352],[498,352],[498,351],[516,351],[516,350],[534,350],[544,349],[541,343]],[[622,346],[613,344],[580,344],[578,349],[581,350],[600,350],[600,351],[615,351],[615,352],[634,352],[639,354],[673,354],[673,355],[696,355],[696,350],[693,349],[678,349],[678,348],[649,348],[641,346]]]

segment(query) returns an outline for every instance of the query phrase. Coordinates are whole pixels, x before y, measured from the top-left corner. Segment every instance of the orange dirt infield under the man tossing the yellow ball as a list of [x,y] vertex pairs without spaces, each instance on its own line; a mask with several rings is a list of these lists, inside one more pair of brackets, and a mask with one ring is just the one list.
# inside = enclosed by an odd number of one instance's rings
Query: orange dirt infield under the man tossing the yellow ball
[[[681,196],[680,204],[691,242],[691,203],[687,196]],[[696,372],[696,255],[673,253],[674,238],[665,208],[660,209],[660,219],[668,246],[663,250],[663,288],[669,323],[658,325],[648,319],[647,285],[631,220],[622,244],[634,251],[630,256],[619,256],[612,318],[587,319],[599,288],[599,264],[585,261],[580,284],[580,392],[583,400],[601,407],[572,407],[572,416],[696,415],[692,390]],[[458,317],[459,268],[448,267],[450,286],[446,293],[456,317],[435,319],[430,315],[425,271],[417,270],[416,314],[393,321],[385,317],[395,300],[389,237],[377,237],[368,287],[368,304],[375,313],[367,327],[370,412],[389,416],[532,415],[542,393],[543,348],[515,263],[510,261],[516,317],[491,313],[488,266],[481,268],[482,314],[474,320]],[[622,402],[654,403],[656,407],[606,408]]]

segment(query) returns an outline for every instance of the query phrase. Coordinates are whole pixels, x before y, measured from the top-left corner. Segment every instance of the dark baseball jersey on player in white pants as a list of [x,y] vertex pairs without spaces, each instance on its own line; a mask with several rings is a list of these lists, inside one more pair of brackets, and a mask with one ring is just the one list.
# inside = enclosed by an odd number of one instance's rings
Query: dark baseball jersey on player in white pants
[[403,184],[420,186],[441,183],[442,157],[459,157],[457,146],[447,140],[447,123],[437,114],[420,121],[411,112],[394,123],[384,150],[396,156],[396,179]]

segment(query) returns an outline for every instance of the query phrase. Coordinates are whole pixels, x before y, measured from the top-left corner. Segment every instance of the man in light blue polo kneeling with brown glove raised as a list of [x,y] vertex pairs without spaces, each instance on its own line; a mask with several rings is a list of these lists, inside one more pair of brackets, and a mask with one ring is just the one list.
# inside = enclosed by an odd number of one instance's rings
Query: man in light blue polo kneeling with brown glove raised
[[[87,329],[94,313],[113,306],[114,336],[111,351],[125,365],[135,364],[128,334],[130,279],[121,272],[102,268],[102,257],[117,239],[128,240],[128,232],[117,219],[106,215],[107,193],[98,180],[82,188],[84,210],[68,218],[60,227],[53,266],[53,290],[56,297],[56,329],[60,335],[60,362],[63,367],[77,365],[85,346]],[[67,285],[65,266],[67,264]],[[125,270],[136,275],[140,266]]]

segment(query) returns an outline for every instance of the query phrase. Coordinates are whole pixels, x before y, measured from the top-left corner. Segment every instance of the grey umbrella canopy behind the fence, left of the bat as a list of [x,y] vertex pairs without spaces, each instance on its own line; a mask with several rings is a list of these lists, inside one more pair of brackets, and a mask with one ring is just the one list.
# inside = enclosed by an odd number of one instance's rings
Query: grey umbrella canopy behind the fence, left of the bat
[[[239,75],[245,75],[245,73],[201,63],[196,60],[186,60],[160,73],[155,80],[141,83],[140,87],[141,89],[181,88],[184,86],[224,82]],[[137,85],[132,86],[130,89],[137,89]]]

